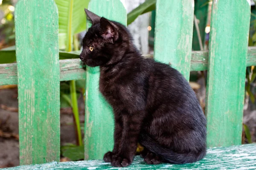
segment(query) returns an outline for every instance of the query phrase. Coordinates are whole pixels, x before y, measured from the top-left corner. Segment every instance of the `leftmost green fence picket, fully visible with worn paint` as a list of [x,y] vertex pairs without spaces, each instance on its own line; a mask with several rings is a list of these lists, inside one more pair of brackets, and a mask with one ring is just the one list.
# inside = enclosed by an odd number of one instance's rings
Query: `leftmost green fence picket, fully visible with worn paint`
[[53,0],[19,0],[15,10],[20,164],[59,161],[58,10]]

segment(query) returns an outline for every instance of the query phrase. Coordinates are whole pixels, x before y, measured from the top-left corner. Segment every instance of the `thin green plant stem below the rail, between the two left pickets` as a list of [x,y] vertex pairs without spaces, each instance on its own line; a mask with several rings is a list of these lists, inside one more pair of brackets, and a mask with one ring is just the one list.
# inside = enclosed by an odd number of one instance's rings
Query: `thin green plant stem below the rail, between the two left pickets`
[[76,123],[78,144],[79,144],[79,146],[82,146],[82,136],[81,136],[80,121],[79,121],[79,111],[78,111],[78,105],[77,105],[76,81],[75,80],[70,81],[70,94],[71,94],[71,100],[72,100],[72,109],[73,109],[73,113],[74,113],[74,119],[75,119],[75,123]]

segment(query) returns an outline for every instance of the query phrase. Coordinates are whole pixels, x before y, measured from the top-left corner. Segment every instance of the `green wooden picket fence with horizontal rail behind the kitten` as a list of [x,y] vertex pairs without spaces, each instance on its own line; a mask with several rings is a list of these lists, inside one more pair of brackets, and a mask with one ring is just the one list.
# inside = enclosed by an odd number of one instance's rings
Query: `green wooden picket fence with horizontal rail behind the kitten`
[[[186,79],[190,71],[208,70],[208,147],[241,144],[245,68],[256,65],[256,48],[247,47],[248,2],[213,0],[209,52],[195,52],[194,1],[157,0],[155,59],[172,64]],[[119,0],[91,0],[89,10],[123,24],[127,20]],[[111,107],[98,91],[99,68],[85,68],[80,59],[58,59],[54,0],[19,0],[15,30],[17,64],[0,65],[0,85],[18,85],[20,164],[59,161],[59,83],[85,78],[84,154],[102,159],[113,147]]]

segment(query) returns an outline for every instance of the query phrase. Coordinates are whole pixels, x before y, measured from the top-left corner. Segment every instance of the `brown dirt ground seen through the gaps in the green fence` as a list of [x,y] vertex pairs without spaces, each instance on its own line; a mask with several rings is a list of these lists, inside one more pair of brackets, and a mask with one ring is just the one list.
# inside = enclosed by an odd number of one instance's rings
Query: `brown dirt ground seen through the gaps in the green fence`
[[[201,84],[202,87],[204,79],[199,79],[198,84]],[[193,86],[197,88],[196,85]],[[198,99],[204,103],[206,89],[199,88],[195,91]],[[245,99],[245,105],[248,105],[247,99]],[[0,168],[19,165],[17,108],[17,88],[0,89]],[[81,123],[84,123],[84,102],[82,98],[79,99],[79,111]],[[61,145],[76,143],[75,130],[73,125],[70,125],[72,123],[73,113],[71,108],[61,109]],[[256,111],[249,111],[248,109],[244,111],[244,123],[251,130],[252,139],[256,142]]]

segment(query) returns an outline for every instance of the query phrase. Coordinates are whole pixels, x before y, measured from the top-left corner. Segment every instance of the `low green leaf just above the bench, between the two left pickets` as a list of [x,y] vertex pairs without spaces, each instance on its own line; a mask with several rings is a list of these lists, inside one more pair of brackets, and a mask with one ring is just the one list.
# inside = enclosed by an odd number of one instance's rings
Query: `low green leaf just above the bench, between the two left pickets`
[[71,161],[79,161],[84,159],[84,145],[82,146],[64,146],[61,147],[62,156],[65,156]]

